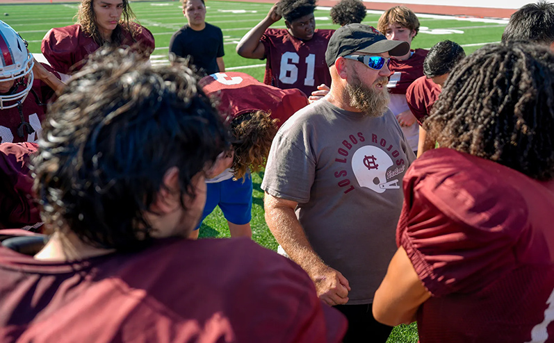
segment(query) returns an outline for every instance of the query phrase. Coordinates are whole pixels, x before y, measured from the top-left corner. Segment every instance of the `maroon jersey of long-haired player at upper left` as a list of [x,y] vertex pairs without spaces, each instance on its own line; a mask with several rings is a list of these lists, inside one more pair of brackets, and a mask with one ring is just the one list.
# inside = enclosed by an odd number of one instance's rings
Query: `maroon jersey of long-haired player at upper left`
[[[152,33],[138,24],[134,24],[137,30],[136,37],[132,37],[127,30],[122,30],[122,47],[135,47],[150,56],[154,51],[154,36]],[[86,33],[83,32],[81,25],[74,24],[70,26],[52,28],[42,38],[42,53],[50,65],[56,69],[56,72],[71,74],[83,67],[85,58],[91,53],[97,51],[100,46]]]

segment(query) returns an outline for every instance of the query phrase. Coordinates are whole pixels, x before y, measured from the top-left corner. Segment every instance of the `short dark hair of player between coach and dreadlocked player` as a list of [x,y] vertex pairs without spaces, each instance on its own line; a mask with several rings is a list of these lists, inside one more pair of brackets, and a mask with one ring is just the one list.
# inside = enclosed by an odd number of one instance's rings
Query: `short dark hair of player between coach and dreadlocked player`
[[423,74],[428,78],[449,73],[466,57],[466,52],[456,42],[443,40],[434,44],[423,60]]

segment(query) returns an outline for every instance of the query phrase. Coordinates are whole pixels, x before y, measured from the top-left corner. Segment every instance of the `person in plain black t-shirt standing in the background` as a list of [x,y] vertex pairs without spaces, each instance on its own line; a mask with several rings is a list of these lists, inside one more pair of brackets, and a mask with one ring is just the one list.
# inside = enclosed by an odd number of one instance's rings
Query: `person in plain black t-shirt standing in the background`
[[187,24],[174,33],[170,53],[190,58],[190,62],[206,74],[225,72],[223,33],[218,26],[206,23],[204,0],[183,0]]

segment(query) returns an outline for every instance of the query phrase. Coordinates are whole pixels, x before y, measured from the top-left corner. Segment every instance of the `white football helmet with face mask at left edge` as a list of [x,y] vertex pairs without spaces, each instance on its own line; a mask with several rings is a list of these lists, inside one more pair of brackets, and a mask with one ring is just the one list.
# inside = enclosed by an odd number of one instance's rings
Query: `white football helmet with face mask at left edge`
[[[7,94],[0,94],[0,110],[23,103],[33,87],[34,64],[33,55],[27,51],[22,37],[0,20],[0,83],[15,80]],[[25,87],[17,92],[19,85]]]

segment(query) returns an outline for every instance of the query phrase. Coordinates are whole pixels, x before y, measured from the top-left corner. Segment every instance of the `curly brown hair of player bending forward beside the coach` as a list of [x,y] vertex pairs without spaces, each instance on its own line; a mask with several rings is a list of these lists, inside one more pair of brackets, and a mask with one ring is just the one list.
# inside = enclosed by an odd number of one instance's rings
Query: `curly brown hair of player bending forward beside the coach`
[[277,133],[277,119],[262,110],[243,113],[231,122],[231,133],[234,135],[234,178],[243,178],[249,169],[252,173],[263,169]]

